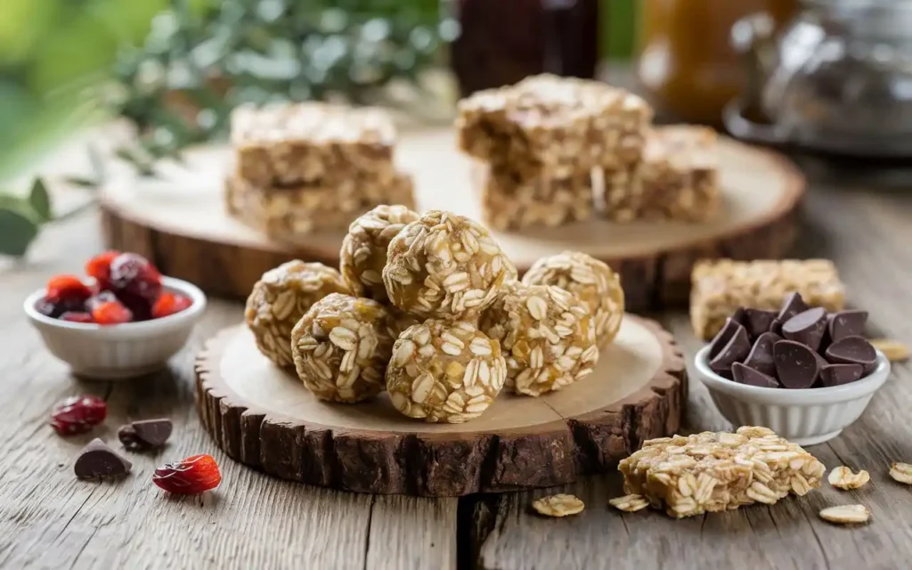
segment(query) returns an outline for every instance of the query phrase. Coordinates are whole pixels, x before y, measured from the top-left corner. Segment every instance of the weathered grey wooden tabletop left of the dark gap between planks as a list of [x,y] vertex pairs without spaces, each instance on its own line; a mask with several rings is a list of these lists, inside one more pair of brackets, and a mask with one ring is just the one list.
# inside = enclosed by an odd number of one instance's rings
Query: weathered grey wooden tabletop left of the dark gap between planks
[[[373,497],[304,487],[255,472],[212,444],[193,406],[192,365],[202,341],[242,318],[213,301],[167,371],[135,382],[86,383],[52,358],[22,315],[21,300],[49,275],[78,273],[100,249],[97,216],[49,227],[27,264],[0,261],[0,567],[3,568],[451,568],[456,500]],[[60,438],[47,425],[58,399],[91,393],[109,418],[91,434]],[[168,416],[174,434],[150,454],[124,451],[128,420]],[[128,454],[119,482],[73,475],[79,449],[98,436]],[[151,483],[155,467],[211,453],[223,482],[202,498],[173,498]]]

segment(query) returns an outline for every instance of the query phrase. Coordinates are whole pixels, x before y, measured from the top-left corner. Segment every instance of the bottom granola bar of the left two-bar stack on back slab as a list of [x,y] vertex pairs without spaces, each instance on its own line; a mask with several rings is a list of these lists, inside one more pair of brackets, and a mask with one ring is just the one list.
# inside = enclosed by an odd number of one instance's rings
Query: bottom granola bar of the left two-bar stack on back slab
[[311,233],[344,231],[352,219],[387,203],[413,208],[413,182],[397,174],[387,185],[351,178],[337,186],[302,184],[262,188],[239,176],[225,181],[225,205],[240,222],[266,235],[294,241]]

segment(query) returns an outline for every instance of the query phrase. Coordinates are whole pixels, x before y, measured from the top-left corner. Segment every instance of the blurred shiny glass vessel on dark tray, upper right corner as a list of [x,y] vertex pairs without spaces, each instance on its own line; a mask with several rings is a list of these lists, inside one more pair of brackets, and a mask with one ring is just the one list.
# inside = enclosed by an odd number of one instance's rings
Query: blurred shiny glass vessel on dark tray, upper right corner
[[[732,29],[755,74],[726,124],[746,139],[912,157],[912,0],[814,0],[781,34],[765,16]],[[740,110],[759,104],[770,124]]]

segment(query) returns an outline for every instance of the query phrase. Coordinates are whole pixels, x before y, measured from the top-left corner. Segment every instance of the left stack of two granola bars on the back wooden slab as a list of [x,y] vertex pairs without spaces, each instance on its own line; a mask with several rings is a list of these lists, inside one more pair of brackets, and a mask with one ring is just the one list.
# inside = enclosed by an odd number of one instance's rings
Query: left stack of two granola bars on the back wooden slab
[[393,161],[385,111],[306,102],[233,111],[234,168],[227,211],[280,240],[347,228],[385,203],[414,205],[413,182]]

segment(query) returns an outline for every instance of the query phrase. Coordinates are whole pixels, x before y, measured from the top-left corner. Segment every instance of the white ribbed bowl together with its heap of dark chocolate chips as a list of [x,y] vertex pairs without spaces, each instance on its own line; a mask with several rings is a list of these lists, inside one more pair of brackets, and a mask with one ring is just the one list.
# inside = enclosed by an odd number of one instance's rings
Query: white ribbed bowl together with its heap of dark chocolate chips
[[786,295],[774,316],[735,311],[695,365],[731,423],[814,445],[857,420],[889,375],[886,357],[861,336],[866,318],[865,311],[827,313],[797,293]]

